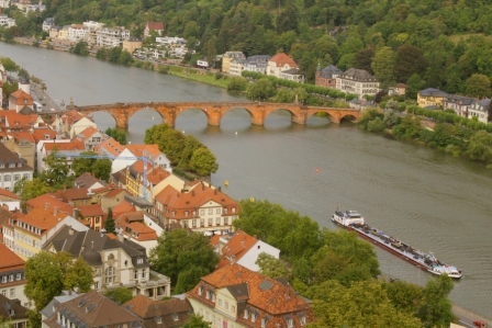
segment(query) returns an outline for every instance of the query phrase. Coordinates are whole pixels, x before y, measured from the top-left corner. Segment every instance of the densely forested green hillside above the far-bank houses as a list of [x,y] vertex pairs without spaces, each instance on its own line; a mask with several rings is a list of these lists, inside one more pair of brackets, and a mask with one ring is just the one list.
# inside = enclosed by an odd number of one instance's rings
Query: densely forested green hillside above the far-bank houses
[[[57,25],[92,20],[124,25],[141,36],[147,21],[165,23],[166,35],[200,41],[206,58],[226,50],[247,56],[290,54],[313,81],[335,64],[362,68],[383,86],[407,82],[466,90],[473,73],[492,78],[490,0],[47,0],[37,20]],[[27,19],[29,20],[29,19]],[[26,19],[23,19],[26,21]],[[18,22],[32,35],[35,24]],[[488,94],[470,94],[484,97]]]

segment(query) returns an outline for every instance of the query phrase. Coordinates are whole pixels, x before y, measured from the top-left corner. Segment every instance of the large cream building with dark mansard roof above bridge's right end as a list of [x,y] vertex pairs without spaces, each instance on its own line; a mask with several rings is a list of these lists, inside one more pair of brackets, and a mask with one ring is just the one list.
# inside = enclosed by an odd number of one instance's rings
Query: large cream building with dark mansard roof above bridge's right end
[[362,99],[365,94],[376,95],[381,90],[376,77],[357,68],[349,68],[336,77],[336,89],[357,94],[359,99]]

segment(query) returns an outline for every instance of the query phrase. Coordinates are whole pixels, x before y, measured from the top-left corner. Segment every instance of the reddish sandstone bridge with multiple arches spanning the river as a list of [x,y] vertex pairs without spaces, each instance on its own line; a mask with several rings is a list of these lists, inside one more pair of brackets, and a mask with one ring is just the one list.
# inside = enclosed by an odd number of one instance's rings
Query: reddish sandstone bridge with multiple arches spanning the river
[[116,121],[118,127],[128,127],[130,117],[142,110],[154,110],[169,126],[175,126],[176,118],[182,112],[191,109],[202,111],[206,115],[209,125],[220,126],[221,118],[232,109],[244,109],[250,117],[251,124],[264,125],[268,115],[278,110],[286,110],[291,114],[291,121],[305,124],[308,118],[315,113],[326,113],[333,123],[339,123],[343,118],[355,121],[361,116],[359,110],[337,108],[315,108],[293,103],[262,103],[262,102],[147,102],[147,103],[113,103],[101,105],[76,106],[82,114],[107,112]]

